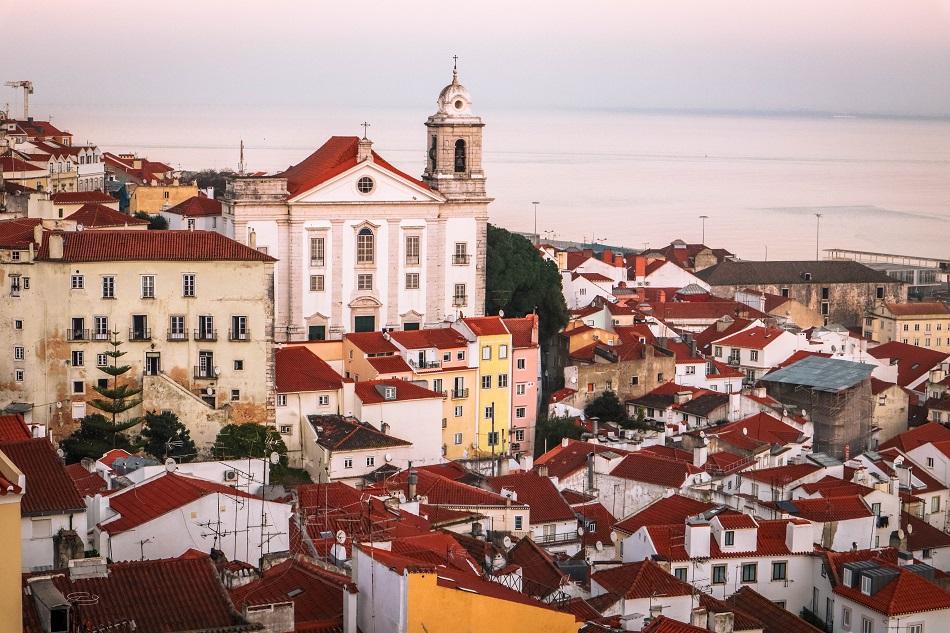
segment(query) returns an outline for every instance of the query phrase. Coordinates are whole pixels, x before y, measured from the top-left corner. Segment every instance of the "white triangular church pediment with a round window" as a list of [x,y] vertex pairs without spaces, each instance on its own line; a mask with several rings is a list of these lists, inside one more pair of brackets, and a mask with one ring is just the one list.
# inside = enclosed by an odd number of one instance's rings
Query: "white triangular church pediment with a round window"
[[443,201],[438,192],[372,161],[358,163],[290,200],[295,204]]

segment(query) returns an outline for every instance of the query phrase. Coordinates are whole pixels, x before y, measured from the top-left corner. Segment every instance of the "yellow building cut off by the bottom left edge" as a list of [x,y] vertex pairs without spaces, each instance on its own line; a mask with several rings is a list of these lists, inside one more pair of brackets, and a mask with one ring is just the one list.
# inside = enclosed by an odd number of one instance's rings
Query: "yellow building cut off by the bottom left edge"
[[0,631],[19,631],[23,626],[20,501],[24,484],[23,473],[0,451],[0,541],[7,544],[0,556]]

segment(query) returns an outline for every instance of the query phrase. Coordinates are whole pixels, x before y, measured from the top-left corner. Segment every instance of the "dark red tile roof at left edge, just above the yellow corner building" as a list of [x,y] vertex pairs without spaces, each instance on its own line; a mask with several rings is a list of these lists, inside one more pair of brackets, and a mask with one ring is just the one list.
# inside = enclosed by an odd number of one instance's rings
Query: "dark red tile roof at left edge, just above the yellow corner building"
[[26,477],[26,494],[20,503],[24,516],[85,512],[86,503],[48,439],[6,442],[0,444],[0,451]]

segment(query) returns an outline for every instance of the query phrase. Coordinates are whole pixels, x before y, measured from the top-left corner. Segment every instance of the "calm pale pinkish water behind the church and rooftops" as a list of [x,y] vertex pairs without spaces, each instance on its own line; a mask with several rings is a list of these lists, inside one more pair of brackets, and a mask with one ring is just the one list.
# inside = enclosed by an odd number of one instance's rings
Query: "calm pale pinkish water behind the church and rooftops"
[[[77,141],[183,169],[236,167],[242,138],[248,169],[281,169],[365,119],[411,174],[431,109],[49,108]],[[698,241],[708,215],[708,244],[788,259],[814,257],[820,211],[822,248],[950,256],[950,121],[479,113],[492,221],[510,229],[532,230],[532,200],[540,232],[631,247]]]

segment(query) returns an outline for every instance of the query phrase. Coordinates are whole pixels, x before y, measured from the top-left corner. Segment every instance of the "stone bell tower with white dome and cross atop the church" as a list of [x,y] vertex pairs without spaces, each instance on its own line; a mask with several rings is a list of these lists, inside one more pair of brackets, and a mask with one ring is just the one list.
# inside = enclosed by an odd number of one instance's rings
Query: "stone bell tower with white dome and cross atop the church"
[[472,97],[459,83],[458,58],[452,83],[442,89],[438,111],[426,120],[426,169],[422,180],[449,199],[485,197],[482,128],[472,114]]

